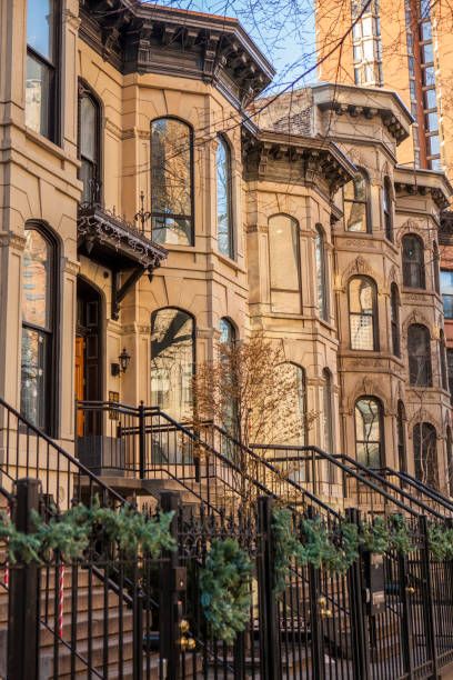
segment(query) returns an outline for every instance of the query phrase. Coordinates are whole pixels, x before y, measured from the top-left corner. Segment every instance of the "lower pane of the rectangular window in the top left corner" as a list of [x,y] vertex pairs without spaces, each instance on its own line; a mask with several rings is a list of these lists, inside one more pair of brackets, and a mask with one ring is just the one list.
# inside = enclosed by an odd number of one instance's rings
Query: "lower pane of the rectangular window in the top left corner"
[[50,103],[49,68],[27,56],[26,126],[34,132],[49,137]]

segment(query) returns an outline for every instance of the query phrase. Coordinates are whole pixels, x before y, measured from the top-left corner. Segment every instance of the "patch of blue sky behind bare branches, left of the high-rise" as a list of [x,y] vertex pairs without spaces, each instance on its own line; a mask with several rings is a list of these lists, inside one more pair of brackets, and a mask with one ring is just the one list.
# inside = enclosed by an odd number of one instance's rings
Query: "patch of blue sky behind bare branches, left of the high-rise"
[[[314,0],[159,0],[159,4],[238,18],[276,70],[271,89],[282,89],[315,63]],[[315,72],[298,87],[313,80]]]

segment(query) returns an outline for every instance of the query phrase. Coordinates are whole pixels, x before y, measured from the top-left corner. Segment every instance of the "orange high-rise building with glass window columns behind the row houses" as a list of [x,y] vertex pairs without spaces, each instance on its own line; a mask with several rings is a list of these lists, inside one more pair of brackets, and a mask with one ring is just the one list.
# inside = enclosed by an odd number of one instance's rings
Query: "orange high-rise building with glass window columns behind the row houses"
[[[399,162],[453,173],[453,14],[427,0],[318,0],[321,80],[396,91],[411,137]],[[339,49],[333,50],[338,44]]]

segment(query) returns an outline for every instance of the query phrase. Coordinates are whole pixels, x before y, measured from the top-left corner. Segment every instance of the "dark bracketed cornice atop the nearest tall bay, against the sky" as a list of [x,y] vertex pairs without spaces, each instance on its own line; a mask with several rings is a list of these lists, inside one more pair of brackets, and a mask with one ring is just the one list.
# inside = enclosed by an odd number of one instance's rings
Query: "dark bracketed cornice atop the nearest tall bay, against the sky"
[[122,73],[201,79],[238,107],[274,74],[236,19],[134,0],[82,0],[81,18],[81,38]]

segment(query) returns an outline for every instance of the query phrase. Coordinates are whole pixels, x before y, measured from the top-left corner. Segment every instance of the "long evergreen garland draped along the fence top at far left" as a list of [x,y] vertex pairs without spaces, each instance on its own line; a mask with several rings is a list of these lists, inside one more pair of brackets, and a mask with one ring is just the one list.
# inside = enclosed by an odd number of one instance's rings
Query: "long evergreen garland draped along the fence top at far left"
[[139,553],[157,558],[162,550],[175,550],[177,543],[170,533],[173,512],[148,518],[133,508],[119,510],[101,508],[98,502],[88,508],[74,506],[49,522],[37,513],[31,513],[33,533],[18,531],[6,513],[0,513],[0,541],[7,542],[10,563],[42,563],[51,558],[53,551],[63,560],[72,561],[83,557],[91,539],[103,534],[114,541],[127,557]]

